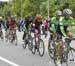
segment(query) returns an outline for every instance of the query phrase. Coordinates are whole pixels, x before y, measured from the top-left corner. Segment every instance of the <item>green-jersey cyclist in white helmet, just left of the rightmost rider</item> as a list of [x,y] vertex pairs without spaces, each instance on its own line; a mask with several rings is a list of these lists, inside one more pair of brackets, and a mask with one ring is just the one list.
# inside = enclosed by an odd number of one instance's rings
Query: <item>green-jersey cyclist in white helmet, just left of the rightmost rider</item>
[[[57,40],[62,39],[61,30],[60,30],[60,19],[62,18],[62,11],[57,10],[56,11],[56,17],[51,18],[51,21],[49,23],[48,29],[50,31],[51,37],[49,40],[52,40],[51,42],[54,42],[54,39]],[[57,50],[57,53],[59,51]],[[58,61],[59,62],[59,61]]]

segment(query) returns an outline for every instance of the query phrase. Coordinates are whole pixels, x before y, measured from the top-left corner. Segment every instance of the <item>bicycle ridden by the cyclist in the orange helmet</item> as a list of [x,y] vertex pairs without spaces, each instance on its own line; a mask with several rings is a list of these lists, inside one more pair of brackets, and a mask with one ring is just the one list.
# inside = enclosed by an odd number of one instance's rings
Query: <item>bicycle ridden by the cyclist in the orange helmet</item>
[[45,52],[44,41],[41,39],[41,36],[38,33],[34,34],[32,53],[35,54],[36,50],[41,57],[44,55]]

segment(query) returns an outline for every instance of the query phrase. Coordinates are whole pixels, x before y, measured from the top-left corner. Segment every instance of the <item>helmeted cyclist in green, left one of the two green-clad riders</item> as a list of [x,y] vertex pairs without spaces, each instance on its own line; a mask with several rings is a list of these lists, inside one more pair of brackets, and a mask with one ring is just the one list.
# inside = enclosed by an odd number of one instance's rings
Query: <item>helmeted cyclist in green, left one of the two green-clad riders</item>
[[59,33],[60,36],[58,36],[57,38],[61,38],[61,33],[60,33],[60,28],[59,28],[59,22],[60,22],[60,18],[62,18],[62,12],[60,10],[56,11],[56,17],[51,18],[51,22],[49,23],[49,31],[51,34],[51,40],[54,38],[56,32]]

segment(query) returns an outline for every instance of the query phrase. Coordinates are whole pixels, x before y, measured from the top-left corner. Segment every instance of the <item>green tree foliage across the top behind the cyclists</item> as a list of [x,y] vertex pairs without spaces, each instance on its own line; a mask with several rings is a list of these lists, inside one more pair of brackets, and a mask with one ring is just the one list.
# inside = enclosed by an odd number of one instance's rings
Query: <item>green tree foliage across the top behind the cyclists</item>
[[[70,8],[75,16],[75,0],[49,0],[50,16],[55,16],[57,9],[63,10]],[[47,0],[12,0],[9,3],[0,5],[0,15],[17,15],[18,18],[27,15],[41,14],[43,17],[48,16],[48,1]]]

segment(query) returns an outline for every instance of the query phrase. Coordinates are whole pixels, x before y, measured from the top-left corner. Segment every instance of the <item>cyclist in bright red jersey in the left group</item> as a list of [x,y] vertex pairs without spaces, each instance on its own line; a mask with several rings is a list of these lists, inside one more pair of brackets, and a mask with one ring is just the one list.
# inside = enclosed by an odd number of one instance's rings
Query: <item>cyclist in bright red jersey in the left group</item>
[[[13,43],[13,40],[17,41],[16,26],[17,24],[16,24],[15,17],[11,16],[9,19],[9,35],[10,37],[12,37],[12,39],[10,38],[11,43]],[[17,43],[15,45],[17,45]]]

